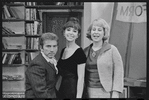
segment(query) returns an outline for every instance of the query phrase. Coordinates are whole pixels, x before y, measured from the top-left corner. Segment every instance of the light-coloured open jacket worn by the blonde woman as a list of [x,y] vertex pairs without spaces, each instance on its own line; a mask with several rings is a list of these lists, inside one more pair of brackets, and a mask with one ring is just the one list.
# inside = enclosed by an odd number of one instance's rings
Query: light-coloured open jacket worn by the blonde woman
[[[91,46],[92,45],[84,49],[86,55],[88,55]],[[100,82],[107,92],[123,92],[123,62],[119,51],[114,45],[104,43],[97,58],[97,69]]]

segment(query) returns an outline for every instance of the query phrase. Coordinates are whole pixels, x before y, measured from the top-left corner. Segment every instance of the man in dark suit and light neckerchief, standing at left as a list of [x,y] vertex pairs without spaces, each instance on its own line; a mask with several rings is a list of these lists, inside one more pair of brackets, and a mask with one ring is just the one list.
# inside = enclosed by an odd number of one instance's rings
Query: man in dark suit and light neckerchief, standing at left
[[26,72],[26,98],[56,98],[58,69],[55,54],[58,37],[44,33],[40,37],[40,53],[30,62]]

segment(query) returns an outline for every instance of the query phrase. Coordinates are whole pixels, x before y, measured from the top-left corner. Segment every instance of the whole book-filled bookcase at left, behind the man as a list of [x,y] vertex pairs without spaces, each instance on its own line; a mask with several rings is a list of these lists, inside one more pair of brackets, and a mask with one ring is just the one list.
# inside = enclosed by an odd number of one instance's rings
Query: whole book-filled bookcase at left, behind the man
[[25,98],[25,70],[39,51],[41,21],[28,2],[2,4],[2,97]]

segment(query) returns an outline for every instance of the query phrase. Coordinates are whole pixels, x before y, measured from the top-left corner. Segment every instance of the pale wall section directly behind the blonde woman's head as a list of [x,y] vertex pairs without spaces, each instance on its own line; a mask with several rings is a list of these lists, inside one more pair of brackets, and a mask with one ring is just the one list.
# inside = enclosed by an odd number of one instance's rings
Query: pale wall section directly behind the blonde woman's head
[[84,2],[84,26],[82,34],[82,47],[87,47],[91,41],[86,38],[90,23],[96,18],[105,19],[111,25],[114,2]]

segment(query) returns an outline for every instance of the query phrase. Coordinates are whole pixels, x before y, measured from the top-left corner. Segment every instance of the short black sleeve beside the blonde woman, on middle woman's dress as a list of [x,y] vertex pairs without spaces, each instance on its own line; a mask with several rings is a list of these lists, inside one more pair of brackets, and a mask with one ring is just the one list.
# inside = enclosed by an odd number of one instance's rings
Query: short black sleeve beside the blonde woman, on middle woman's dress
[[83,49],[82,48],[79,48],[78,49],[78,52],[77,52],[77,55],[76,55],[76,58],[75,58],[77,64],[83,64],[83,63],[85,63],[86,62],[86,59],[87,58],[86,58],[86,55],[85,55]]

